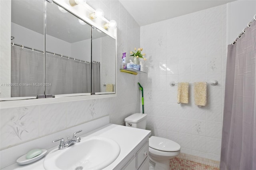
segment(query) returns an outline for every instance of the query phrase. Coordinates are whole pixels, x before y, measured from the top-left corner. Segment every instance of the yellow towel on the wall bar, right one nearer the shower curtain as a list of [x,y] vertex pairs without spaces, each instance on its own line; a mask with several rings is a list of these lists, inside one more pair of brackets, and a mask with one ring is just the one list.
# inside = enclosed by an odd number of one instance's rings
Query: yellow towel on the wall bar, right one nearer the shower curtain
[[194,83],[194,98],[195,98],[195,105],[198,105],[198,106],[206,105],[206,82]]

